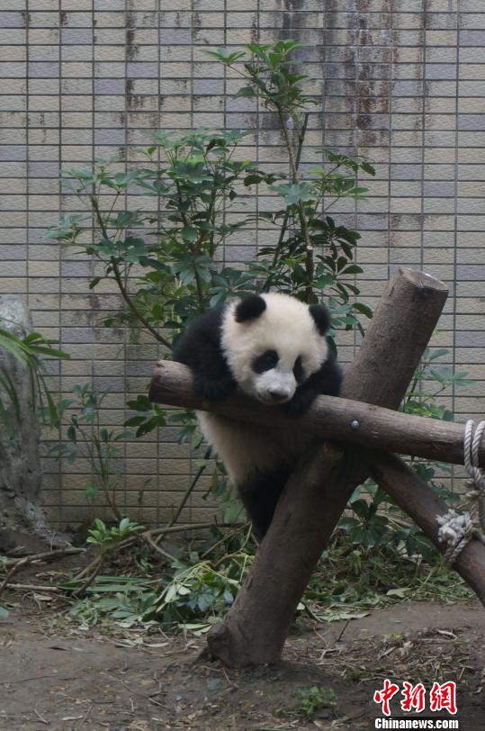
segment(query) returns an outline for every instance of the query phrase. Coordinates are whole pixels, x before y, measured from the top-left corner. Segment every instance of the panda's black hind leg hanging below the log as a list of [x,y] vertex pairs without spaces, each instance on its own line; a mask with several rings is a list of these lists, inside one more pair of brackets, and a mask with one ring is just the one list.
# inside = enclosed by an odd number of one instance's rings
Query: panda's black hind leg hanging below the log
[[256,537],[261,540],[273,520],[276,504],[283,492],[290,471],[254,474],[246,483],[238,485],[238,493],[253,523]]

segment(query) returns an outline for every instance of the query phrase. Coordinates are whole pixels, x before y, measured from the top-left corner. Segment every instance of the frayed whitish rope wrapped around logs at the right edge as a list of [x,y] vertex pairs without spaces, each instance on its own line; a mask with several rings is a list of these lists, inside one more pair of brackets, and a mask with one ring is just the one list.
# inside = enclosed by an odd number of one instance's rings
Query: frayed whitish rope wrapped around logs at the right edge
[[455,510],[448,510],[445,515],[437,515],[438,540],[446,544],[445,564],[451,567],[463,548],[473,537],[485,543],[485,537],[475,528],[475,520],[479,519],[481,530],[485,532],[485,477],[480,469],[479,448],[481,437],[485,431],[485,421],[481,421],[475,429],[475,422],[468,420],[465,425],[463,438],[463,456],[466,471],[470,479],[466,486],[471,488],[466,497],[469,502],[469,512],[460,515]]

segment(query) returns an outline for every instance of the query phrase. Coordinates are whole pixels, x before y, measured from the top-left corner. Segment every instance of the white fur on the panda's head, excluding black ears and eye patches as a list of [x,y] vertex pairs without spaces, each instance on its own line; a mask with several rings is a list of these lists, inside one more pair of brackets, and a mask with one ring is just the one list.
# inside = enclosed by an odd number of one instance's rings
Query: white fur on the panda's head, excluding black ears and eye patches
[[[229,368],[240,388],[265,403],[274,403],[269,393],[284,393],[281,402],[290,401],[297,383],[293,366],[298,356],[305,378],[319,370],[328,357],[327,339],[319,334],[308,305],[288,294],[261,295],[266,309],[259,317],[237,322],[234,317],[238,300],[231,302],[222,320],[221,346]],[[253,361],[266,350],[275,350],[277,365],[256,374]]]

